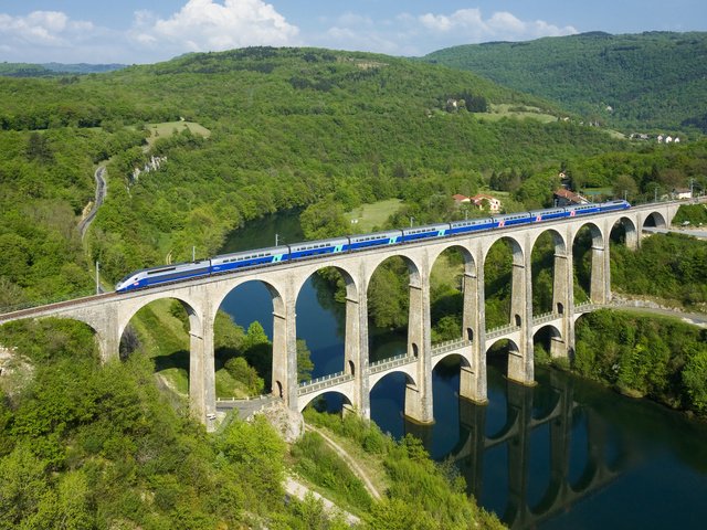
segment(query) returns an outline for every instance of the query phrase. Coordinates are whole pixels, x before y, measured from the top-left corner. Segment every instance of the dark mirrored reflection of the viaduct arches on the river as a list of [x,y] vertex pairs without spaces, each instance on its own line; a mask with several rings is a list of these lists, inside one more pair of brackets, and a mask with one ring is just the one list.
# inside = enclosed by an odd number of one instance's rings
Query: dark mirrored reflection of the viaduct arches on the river
[[489,372],[489,405],[460,400],[460,438],[447,458],[510,528],[534,528],[623,473],[627,463],[612,457],[622,453],[618,438],[577,404],[571,378],[540,372],[545,381],[527,388]]

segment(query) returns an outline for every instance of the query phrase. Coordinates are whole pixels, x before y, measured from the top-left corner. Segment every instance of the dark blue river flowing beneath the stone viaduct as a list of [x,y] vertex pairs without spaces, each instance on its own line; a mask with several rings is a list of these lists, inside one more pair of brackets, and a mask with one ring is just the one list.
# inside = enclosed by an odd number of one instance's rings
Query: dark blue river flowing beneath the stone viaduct
[[[232,234],[224,251],[303,241],[297,212],[271,215]],[[326,283],[309,278],[297,300],[297,336],[313,377],[344,368],[344,309]],[[272,303],[260,283],[222,305],[272,338]],[[372,330],[378,336],[377,330]],[[404,338],[373,341],[371,358],[404,351]],[[644,400],[631,400],[555,370],[537,369],[534,388],[508,382],[493,359],[488,404],[458,398],[458,362],[433,373],[435,423],[404,421],[404,377],[371,392],[371,417],[386,432],[419,436],[433,458],[452,459],[467,490],[511,528],[704,528],[707,425]],[[340,406],[340,400],[328,400]]]

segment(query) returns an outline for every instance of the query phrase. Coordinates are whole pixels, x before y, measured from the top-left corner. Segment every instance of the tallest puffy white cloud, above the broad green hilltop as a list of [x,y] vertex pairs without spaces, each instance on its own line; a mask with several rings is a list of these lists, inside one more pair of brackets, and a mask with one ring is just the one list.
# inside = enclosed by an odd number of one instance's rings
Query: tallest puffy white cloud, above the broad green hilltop
[[[249,45],[285,46],[299,30],[262,0],[189,0],[168,19],[135,13],[130,39],[139,46],[184,52],[221,51]],[[163,53],[162,53],[163,55]]]

